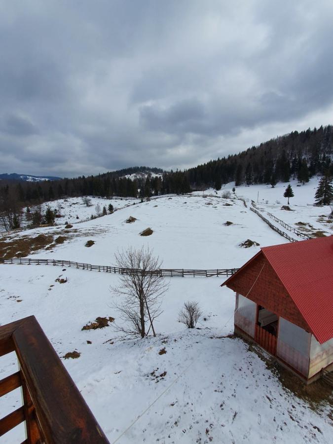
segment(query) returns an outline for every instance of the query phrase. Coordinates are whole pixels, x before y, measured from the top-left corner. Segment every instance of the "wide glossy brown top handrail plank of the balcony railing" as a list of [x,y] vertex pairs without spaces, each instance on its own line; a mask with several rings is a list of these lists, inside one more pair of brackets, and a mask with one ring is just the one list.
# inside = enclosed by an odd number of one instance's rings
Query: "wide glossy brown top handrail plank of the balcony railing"
[[34,316],[13,340],[45,441],[109,443]]

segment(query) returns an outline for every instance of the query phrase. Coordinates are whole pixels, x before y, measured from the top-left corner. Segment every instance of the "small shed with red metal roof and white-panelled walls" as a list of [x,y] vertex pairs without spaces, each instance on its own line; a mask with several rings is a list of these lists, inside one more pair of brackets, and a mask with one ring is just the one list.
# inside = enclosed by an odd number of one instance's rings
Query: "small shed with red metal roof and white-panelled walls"
[[333,236],[263,247],[222,285],[235,333],[310,383],[333,370]]

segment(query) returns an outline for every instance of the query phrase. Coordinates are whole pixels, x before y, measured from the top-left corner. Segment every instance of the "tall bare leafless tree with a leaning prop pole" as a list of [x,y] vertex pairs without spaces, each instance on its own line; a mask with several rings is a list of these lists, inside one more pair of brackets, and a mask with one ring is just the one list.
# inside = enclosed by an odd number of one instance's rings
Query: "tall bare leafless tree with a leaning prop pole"
[[[127,250],[115,254],[117,266],[124,269],[120,285],[111,288],[121,301],[113,304],[120,313],[123,324],[116,325],[118,331],[127,334],[148,335],[150,328],[156,336],[153,322],[162,313],[162,296],[169,283],[160,275],[162,261],[153,256],[149,247]],[[148,330],[146,325],[149,325]]]

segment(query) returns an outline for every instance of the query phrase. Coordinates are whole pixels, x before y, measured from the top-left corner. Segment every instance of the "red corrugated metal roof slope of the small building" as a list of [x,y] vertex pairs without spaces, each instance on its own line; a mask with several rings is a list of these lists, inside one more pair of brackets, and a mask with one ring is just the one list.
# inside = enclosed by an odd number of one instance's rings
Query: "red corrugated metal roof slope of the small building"
[[333,236],[261,251],[322,344],[333,337]]

